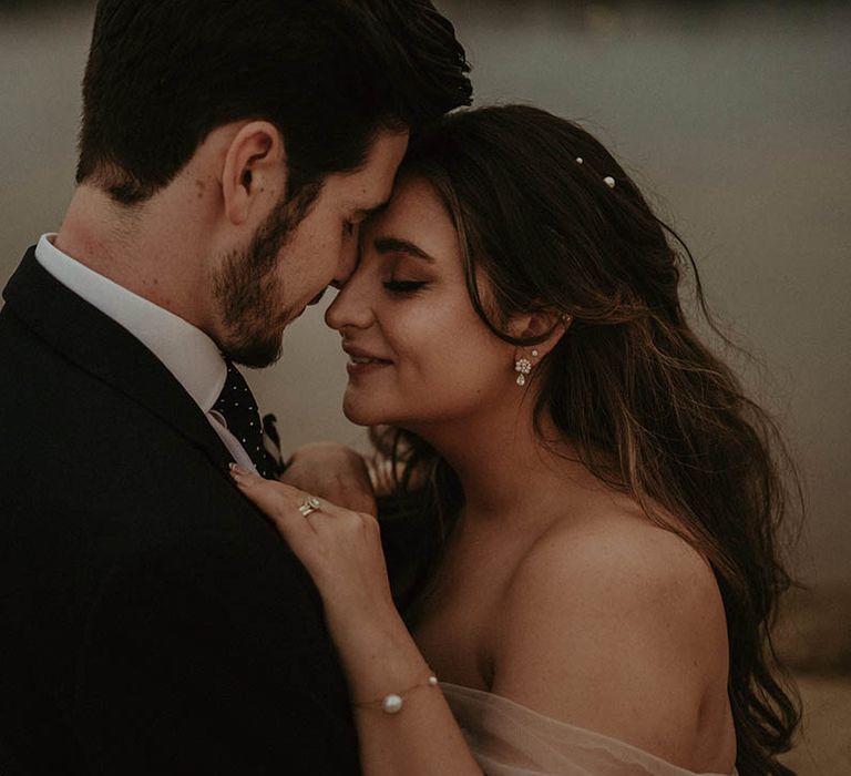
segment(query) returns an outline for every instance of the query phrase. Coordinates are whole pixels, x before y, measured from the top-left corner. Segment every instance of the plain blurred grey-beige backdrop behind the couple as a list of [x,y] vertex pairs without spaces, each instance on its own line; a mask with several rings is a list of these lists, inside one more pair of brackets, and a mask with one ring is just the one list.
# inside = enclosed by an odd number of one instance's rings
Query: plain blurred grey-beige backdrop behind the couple
[[[735,359],[803,473],[794,562],[819,595],[796,609],[790,640],[809,645],[790,647],[793,662],[851,668],[851,3],[437,4],[466,47],[476,104],[580,120],[686,238],[722,325],[762,364]],[[0,3],[0,285],[72,193],[93,7]],[[339,411],[344,363],[320,307],[287,331],[277,366],[249,375],[287,448],[363,445]]]

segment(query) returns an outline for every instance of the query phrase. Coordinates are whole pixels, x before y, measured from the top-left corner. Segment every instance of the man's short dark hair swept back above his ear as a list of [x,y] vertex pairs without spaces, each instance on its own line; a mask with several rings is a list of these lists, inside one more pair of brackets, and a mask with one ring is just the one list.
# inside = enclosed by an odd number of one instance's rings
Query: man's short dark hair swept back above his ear
[[377,131],[469,104],[469,70],[429,0],[100,0],[76,181],[132,205],[216,126],[265,119],[293,200],[362,164]]

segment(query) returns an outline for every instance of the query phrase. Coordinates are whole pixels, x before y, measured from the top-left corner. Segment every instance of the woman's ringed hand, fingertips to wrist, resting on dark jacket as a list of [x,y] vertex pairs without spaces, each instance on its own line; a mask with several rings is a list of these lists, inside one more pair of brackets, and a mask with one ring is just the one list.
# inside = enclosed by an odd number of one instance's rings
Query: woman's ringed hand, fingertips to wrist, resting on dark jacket
[[348,639],[351,630],[398,616],[372,514],[324,498],[310,509],[307,500],[316,497],[237,466],[232,467],[232,477],[243,494],[273,520],[312,576],[335,637]]

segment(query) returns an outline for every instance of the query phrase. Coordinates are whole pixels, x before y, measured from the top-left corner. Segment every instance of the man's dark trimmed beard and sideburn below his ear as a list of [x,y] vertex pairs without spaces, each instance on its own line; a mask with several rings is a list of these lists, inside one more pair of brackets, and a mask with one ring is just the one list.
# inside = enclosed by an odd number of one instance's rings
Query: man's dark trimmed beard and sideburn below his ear
[[213,282],[225,326],[218,345],[249,367],[267,367],[280,357],[284,328],[293,312],[285,306],[276,276],[278,255],[306,215],[304,203],[281,200],[245,251],[226,256]]

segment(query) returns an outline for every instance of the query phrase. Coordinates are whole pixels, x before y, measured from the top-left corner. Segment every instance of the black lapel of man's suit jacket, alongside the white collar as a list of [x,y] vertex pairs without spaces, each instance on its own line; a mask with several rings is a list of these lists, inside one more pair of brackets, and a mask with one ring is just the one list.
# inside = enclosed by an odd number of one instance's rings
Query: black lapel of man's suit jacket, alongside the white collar
[[48,273],[35,258],[34,247],[12,275],[3,298],[48,345],[146,407],[227,471],[230,453],[174,375],[123,326]]

